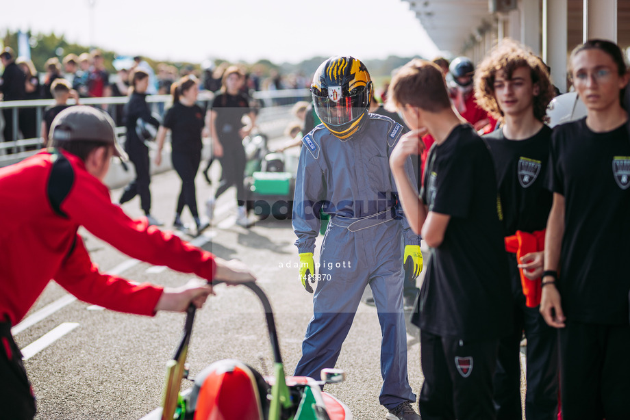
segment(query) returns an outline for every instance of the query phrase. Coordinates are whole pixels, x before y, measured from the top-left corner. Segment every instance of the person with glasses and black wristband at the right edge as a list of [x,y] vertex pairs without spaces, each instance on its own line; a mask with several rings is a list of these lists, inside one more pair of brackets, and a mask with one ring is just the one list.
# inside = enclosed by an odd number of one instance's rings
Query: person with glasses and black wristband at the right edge
[[540,311],[559,328],[565,419],[627,419],[630,348],[630,135],[619,47],[589,40],[570,57],[588,109],[555,127],[553,205],[547,222]]

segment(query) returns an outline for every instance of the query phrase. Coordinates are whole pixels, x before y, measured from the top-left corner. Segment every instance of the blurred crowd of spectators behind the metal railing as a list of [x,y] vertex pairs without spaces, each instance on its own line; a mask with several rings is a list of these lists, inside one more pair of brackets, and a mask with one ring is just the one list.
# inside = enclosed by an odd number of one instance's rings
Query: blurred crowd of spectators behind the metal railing
[[[99,49],[80,55],[70,53],[63,58],[51,57],[45,63],[43,72],[40,72],[31,60],[16,56],[10,47],[1,51],[0,59],[4,68],[0,78],[3,102],[55,99],[55,93],[51,88],[57,79],[65,79],[70,83],[71,92],[68,99],[75,101],[80,101],[80,98],[128,96],[132,73],[138,68],[149,74],[147,94],[170,94],[173,83],[180,77],[188,75],[194,75],[199,79],[200,90],[216,92],[221,88],[223,73],[230,66],[227,62],[215,65],[208,60],[199,68],[192,65],[177,68],[166,63],[159,63],[153,68],[143,57],[136,56],[133,59],[123,57],[114,60],[112,66],[115,73],[110,73]],[[269,75],[264,75],[262,66],[253,66],[251,70],[244,66],[240,67],[245,75],[242,92],[248,95],[259,90],[307,88],[310,83],[303,74],[281,75],[277,70],[271,70]],[[108,111],[117,125],[121,124],[123,105],[108,107],[107,104],[103,104],[100,107]],[[162,106],[160,114],[163,112]],[[36,107],[21,107],[16,113],[16,118],[13,114],[12,107],[3,108],[4,122],[1,131],[3,141],[38,137],[38,128],[43,126],[38,122]],[[39,136],[46,137],[45,133],[40,133]]]

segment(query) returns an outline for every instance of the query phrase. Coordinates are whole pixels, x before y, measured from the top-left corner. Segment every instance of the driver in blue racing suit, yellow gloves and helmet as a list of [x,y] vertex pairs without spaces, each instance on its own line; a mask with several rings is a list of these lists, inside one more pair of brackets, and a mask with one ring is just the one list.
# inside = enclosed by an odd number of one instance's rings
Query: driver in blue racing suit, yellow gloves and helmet
[[[293,230],[301,283],[310,293],[314,283],[316,290],[295,375],[318,377],[320,369],[335,366],[370,285],[382,334],[379,402],[388,409],[386,419],[419,420],[410,404],[416,395],[407,378],[403,283],[422,270],[420,237],[398,205],[388,163],[403,127],[368,113],[371,91],[368,70],[353,57],[331,57],[313,77],[314,107],[323,124],[302,140]],[[407,171],[415,178],[411,159]],[[320,210],[331,220],[316,273]]]

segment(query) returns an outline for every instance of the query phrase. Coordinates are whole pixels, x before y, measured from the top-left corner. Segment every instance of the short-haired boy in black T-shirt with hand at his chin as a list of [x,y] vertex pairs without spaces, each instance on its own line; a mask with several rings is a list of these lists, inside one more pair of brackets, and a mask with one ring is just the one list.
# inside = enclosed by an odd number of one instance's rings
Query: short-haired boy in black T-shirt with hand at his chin
[[[412,129],[392,152],[392,174],[410,226],[431,247],[414,319],[425,376],[420,416],[494,419],[492,374],[512,308],[492,157],[453,111],[436,64],[403,66],[388,101]],[[403,163],[422,152],[427,131],[436,142],[418,197]]]

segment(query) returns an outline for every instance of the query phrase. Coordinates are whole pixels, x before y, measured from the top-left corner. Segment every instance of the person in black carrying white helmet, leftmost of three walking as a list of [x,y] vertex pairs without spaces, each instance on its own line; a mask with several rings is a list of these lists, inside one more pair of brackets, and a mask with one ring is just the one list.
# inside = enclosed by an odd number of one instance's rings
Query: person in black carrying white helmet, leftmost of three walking
[[162,226],[163,223],[155,219],[151,215],[151,191],[149,183],[151,183],[151,174],[149,173],[149,147],[144,144],[144,140],[138,137],[136,133],[136,125],[138,120],[154,125],[160,125],[153,116],[147,105],[147,88],[149,87],[149,73],[144,70],[136,69],[131,74],[131,85],[129,101],[123,109],[123,122],[127,129],[127,140],[125,141],[125,151],[129,155],[129,160],[136,168],[136,179],[131,181],[118,201],[120,205],[131,200],[135,196],[140,196],[140,206],[147,215],[149,224]]

